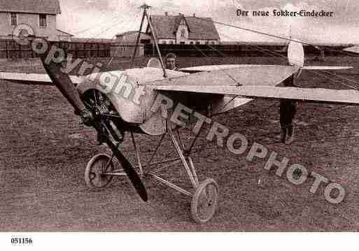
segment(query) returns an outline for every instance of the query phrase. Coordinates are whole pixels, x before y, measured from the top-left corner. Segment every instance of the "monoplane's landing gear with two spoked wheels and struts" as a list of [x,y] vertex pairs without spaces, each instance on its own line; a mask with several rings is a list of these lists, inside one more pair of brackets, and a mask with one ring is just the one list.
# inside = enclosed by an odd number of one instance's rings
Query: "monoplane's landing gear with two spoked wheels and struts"
[[[167,185],[172,189],[180,192],[181,194],[185,194],[186,196],[190,196],[192,199],[190,212],[192,219],[198,223],[204,223],[211,220],[214,213],[216,212],[216,208],[218,206],[218,185],[216,181],[213,179],[207,178],[203,182],[199,182],[197,172],[195,166],[192,162],[192,158],[190,157],[190,150],[185,150],[183,143],[181,142],[181,138],[179,137],[178,131],[176,131],[176,135],[174,131],[171,130],[170,127],[167,127],[167,134],[163,134],[160,142],[157,144],[153,155],[150,157],[150,160],[146,166],[141,164],[141,158],[139,154],[139,148],[136,145],[136,141],[134,139],[134,134],[131,132],[132,143],[134,144],[134,148],[136,150],[136,157],[138,161],[139,175],[145,178],[153,178],[163,185]],[[178,153],[178,157],[174,159],[170,159],[164,162],[156,162],[153,163],[153,159],[158,152],[158,149],[163,143],[164,137],[169,135],[171,142],[176,148],[176,152]],[[197,137],[196,137],[197,138]],[[113,156],[109,157],[108,155],[97,155],[93,157],[90,162],[87,164],[87,168],[85,171],[85,180],[87,186],[91,188],[102,188],[106,187],[106,185],[111,182],[110,178],[114,176],[126,176],[126,174],[121,170],[121,168],[114,168],[113,166]],[[192,185],[191,189],[184,189],[175,185],[168,180],[165,180],[160,176],[160,172],[165,168],[169,168],[178,163],[182,163],[185,168],[186,173],[188,174],[188,178]],[[102,166],[99,168],[97,166]],[[150,168],[150,166],[157,168],[151,171],[144,171],[144,167],[146,169]]]

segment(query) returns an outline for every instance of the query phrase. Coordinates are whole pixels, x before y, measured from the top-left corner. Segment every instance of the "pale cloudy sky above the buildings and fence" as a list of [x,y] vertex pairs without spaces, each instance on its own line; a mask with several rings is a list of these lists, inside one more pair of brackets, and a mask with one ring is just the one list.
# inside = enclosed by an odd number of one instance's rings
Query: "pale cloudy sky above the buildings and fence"
[[[113,38],[139,29],[144,1],[59,0],[62,14],[57,27],[77,37]],[[299,39],[305,43],[359,44],[359,1],[356,0],[147,0],[150,14],[212,17],[217,22],[266,34]],[[237,9],[248,16],[237,16]],[[333,17],[274,17],[276,10],[325,10]],[[269,17],[253,17],[253,10],[268,10]],[[275,38],[216,24],[222,41],[276,41]]]

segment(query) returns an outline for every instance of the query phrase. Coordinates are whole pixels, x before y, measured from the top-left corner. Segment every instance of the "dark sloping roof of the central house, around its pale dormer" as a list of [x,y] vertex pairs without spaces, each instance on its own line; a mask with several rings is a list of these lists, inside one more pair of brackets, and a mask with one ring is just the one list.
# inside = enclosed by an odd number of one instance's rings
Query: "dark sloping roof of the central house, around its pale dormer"
[[176,38],[176,31],[184,18],[189,28],[189,39],[219,40],[220,36],[211,17],[185,17],[184,15],[151,15],[157,38]]

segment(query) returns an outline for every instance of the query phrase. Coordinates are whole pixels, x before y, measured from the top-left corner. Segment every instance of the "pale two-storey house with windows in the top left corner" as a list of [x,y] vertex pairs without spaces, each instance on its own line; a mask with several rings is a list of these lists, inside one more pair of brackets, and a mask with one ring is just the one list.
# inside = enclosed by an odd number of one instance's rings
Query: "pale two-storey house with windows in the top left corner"
[[60,13],[59,0],[0,0],[0,38],[11,38],[17,25],[27,24],[36,37],[66,40],[72,35],[57,29]]

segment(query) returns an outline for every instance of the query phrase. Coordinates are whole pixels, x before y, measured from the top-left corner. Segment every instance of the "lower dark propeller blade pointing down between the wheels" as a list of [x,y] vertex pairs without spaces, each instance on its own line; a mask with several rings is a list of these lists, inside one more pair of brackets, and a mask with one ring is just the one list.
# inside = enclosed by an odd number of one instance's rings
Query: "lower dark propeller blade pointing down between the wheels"
[[[97,131],[101,132],[99,128],[97,128]],[[113,154],[118,159],[118,162],[120,162],[123,170],[127,174],[127,177],[134,186],[134,189],[136,189],[141,199],[146,202],[148,200],[146,187],[143,185],[143,182],[137,174],[136,170],[134,169],[134,166],[132,166],[132,164],[122,154],[122,152],[118,150],[117,146],[111,141],[111,138],[109,138],[108,136],[106,136],[106,144],[109,148],[111,148]]]

